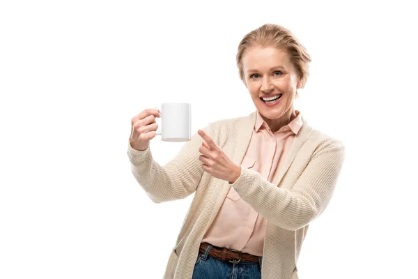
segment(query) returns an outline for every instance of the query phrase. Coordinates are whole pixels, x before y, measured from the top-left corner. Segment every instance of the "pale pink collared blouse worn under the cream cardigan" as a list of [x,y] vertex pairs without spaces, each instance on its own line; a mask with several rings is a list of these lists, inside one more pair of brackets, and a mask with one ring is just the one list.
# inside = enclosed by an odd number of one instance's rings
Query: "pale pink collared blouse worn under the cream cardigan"
[[[295,110],[295,114],[295,119],[273,134],[257,111],[241,167],[253,169],[269,182],[274,181],[295,135],[303,125],[302,114],[298,110]],[[231,187],[202,242],[263,256],[264,236],[264,217],[244,202]]]

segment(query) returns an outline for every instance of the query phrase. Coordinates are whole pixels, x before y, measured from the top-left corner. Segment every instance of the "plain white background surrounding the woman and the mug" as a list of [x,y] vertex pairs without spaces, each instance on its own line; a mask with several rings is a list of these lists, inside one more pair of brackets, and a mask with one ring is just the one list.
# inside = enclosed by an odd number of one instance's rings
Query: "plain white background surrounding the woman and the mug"
[[[312,56],[295,108],[346,145],[300,278],[418,278],[410,2],[1,1],[0,278],[161,278],[193,195],[151,202],[130,120],[187,102],[195,133],[253,112],[235,54],[265,23]],[[151,150],[164,164],[183,144]]]

